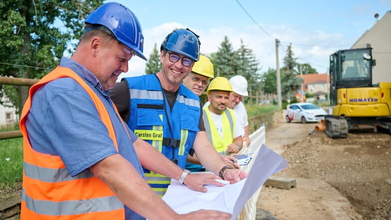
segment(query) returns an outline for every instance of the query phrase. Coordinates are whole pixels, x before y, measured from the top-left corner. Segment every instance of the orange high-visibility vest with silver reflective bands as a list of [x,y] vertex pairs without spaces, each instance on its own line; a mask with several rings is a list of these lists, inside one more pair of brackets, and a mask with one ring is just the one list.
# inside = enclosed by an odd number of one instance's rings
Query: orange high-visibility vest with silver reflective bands
[[114,128],[102,101],[75,72],[58,66],[30,88],[21,114],[24,163],[20,219],[124,220],[124,204],[89,169],[71,177],[59,156],[36,152],[28,141],[25,120],[31,97],[46,83],[61,77],[73,78],[90,95],[118,151]]

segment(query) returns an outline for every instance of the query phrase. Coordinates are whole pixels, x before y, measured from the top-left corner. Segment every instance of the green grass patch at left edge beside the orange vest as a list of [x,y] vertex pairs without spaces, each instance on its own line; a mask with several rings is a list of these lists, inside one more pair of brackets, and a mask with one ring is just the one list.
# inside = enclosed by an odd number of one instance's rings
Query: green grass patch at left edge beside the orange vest
[[23,169],[23,139],[0,140],[0,189],[20,185]]

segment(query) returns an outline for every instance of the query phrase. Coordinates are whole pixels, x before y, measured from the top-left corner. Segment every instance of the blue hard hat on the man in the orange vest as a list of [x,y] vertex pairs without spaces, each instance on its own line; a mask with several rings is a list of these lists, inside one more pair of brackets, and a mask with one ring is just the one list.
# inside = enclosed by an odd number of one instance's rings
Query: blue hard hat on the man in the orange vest
[[121,43],[135,50],[137,56],[147,60],[143,54],[144,36],[140,22],[126,6],[107,2],[92,11],[85,22],[107,27]]

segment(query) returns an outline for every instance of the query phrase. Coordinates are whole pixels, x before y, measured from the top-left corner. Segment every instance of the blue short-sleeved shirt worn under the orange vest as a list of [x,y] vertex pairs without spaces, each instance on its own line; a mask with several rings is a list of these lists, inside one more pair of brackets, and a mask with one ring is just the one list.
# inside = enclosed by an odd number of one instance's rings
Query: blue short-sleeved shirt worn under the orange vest
[[[137,136],[125,125],[131,136],[128,138],[108,91],[103,90],[95,75],[79,63],[62,57],[60,66],[77,73],[102,100],[114,127],[119,154],[143,175],[133,147]],[[56,79],[41,87],[32,97],[25,124],[32,148],[41,153],[60,156],[72,177],[118,153],[94,102],[72,78]],[[127,207],[125,211],[126,220],[145,219]]]

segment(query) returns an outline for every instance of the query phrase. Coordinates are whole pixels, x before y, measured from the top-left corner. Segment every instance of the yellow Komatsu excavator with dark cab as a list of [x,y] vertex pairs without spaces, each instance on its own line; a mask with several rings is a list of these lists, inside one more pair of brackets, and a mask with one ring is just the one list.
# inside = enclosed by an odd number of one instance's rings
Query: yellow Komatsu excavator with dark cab
[[332,115],[325,116],[325,132],[346,138],[349,131],[379,127],[391,132],[391,82],[372,82],[372,48],[339,50],[330,55]]

